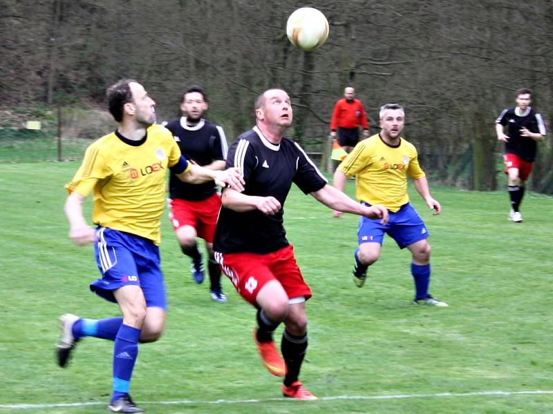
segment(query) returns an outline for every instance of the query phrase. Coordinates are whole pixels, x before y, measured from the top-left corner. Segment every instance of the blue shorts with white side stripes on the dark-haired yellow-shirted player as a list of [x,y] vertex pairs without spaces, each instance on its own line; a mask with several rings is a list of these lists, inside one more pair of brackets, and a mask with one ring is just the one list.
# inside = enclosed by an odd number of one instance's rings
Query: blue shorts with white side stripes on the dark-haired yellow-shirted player
[[96,228],[96,239],[94,250],[102,278],[91,283],[94,293],[117,302],[113,290],[137,285],[142,288],[146,306],[167,308],[158,246],[144,237],[102,226]]

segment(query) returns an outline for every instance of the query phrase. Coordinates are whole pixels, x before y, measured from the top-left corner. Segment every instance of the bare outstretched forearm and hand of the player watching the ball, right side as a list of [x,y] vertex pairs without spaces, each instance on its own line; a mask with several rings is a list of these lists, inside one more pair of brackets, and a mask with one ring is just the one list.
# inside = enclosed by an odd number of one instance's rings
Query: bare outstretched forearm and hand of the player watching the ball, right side
[[333,210],[363,215],[371,219],[382,219],[382,224],[388,222],[388,210],[383,206],[364,206],[332,186],[326,185],[320,190],[310,193],[310,195]]

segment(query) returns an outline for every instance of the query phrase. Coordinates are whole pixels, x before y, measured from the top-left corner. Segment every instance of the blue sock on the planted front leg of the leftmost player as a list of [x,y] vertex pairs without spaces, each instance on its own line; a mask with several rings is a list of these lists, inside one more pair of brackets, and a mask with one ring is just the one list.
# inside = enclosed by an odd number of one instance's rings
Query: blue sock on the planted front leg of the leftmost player
[[122,324],[113,345],[113,395],[111,402],[129,394],[131,376],[138,357],[140,329]]

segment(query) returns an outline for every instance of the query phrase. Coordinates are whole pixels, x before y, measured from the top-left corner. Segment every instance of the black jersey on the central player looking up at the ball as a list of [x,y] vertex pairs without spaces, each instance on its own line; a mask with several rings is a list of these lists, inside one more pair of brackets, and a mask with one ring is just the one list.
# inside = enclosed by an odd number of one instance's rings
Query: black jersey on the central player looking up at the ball
[[214,250],[220,253],[264,254],[287,246],[283,214],[292,182],[305,194],[320,190],[327,182],[298,144],[288,138],[271,144],[257,127],[234,141],[227,157],[229,167],[243,171],[244,194],[272,196],[283,208],[276,215],[221,208],[214,240]]

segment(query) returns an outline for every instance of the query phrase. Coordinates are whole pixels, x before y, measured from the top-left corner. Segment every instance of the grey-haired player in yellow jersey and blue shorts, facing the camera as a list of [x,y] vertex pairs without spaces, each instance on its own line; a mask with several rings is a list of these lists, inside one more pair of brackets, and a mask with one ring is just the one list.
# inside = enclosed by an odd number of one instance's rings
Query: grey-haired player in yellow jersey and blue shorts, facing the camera
[[442,206],[430,194],[415,146],[400,136],[405,121],[402,106],[388,103],[380,108],[379,115],[380,133],[360,141],[334,175],[334,186],[342,191],[346,188],[347,178],[355,176],[357,199],[366,206],[381,204],[390,211],[387,224],[361,218],[353,281],[359,288],[364,285],[368,266],[380,256],[384,234],[387,233],[400,248],[411,251],[411,273],[415,282],[415,298],[411,303],[448,306],[429,294],[429,232],[409,202],[407,177],[413,179],[415,188],[427,206],[434,210],[434,215],[442,213]]

